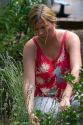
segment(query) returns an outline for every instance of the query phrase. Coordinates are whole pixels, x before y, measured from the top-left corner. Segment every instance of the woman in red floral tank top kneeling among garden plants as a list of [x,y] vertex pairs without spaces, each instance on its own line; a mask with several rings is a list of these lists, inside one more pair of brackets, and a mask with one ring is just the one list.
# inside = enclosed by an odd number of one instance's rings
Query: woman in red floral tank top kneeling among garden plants
[[[23,60],[24,97],[31,117],[34,102],[40,102],[41,98],[56,100],[60,110],[70,106],[73,91],[64,74],[70,72],[75,82],[79,80],[81,55],[79,37],[57,29],[55,13],[46,5],[33,6],[29,19],[36,35],[25,44]],[[45,102],[42,101],[42,106]]]

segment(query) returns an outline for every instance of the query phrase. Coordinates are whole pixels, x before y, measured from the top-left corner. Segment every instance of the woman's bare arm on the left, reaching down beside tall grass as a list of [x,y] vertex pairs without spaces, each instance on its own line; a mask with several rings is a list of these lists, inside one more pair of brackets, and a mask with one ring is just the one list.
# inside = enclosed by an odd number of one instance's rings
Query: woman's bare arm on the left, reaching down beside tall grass
[[27,42],[23,50],[24,64],[24,84],[23,93],[25,99],[26,110],[28,114],[32,114],[35,92],[35,49],[30,42]]

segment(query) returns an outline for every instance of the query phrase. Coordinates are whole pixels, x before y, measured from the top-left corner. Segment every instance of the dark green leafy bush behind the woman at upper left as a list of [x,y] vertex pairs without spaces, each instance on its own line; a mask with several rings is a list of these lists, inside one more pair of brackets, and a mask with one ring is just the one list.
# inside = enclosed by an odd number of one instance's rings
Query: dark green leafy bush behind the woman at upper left
[[0,5],[0,53],[7,50],[16,60],[22,60],[23,46],[34,34],[28,14],[38,3],[46,0],[10,0],[7,6]]

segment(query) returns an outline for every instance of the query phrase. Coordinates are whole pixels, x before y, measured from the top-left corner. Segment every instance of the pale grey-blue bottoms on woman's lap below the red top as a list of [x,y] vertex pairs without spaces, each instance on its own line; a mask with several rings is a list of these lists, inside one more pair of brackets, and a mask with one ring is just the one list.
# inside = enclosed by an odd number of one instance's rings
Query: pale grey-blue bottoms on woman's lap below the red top
[[[34,99],[34,112],[40,110],[42,113],[52,113],[57,115],[59,112],[59,102],[51,97],[35,97]],[[71,99],[71,105],[77,109],[79,102]]]

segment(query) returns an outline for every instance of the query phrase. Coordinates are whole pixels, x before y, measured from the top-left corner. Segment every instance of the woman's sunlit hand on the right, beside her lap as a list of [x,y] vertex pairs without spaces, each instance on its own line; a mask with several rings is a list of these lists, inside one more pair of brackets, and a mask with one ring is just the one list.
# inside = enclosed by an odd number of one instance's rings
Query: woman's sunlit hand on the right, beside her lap
[[59,103],[59,110],[60,111],[65,110],[69,106],[70,106],[70,99],[64,97]]

